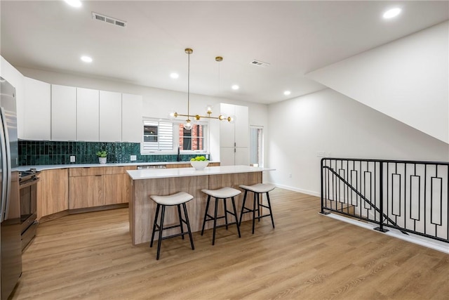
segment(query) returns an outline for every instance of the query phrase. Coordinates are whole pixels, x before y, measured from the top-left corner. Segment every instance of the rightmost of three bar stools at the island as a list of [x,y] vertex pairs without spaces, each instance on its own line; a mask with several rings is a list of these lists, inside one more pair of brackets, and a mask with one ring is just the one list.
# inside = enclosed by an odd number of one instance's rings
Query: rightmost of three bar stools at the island
[[[239,223],[241,223],[241,219],[243,214],[248,214],[248,212],[252,212],[253,213],[253,234],[254,234],[254,223],[255,223],[255,219],[257,219],[258,221],[260,221],[261,218],[264,218],[265,216],[270,216],[272,218],[272,225],[274,228],[274,220],[273,220],[273,214],[272,214],[272,204],[269,202],[269,195],[268,192],[270,190],[273,190],[275,188],[274,185],[269,184],[269,183],[257,183],[255,185],[239,185],[240,188],[242,188],[243,190],[245,190],[245,195],[243,196],[243,204],[241,207],[241,214],[240,214],[240,221]],[[253,198],[253,209],[248,209],[248,207],[245,207],[245,202],[246,202],[246,194],[248,192],[253,192],[254,194],[254,198]],[[262,202],[260,202],[260,198],[262,198],[263,200],[263,195],[262,197],[259,197],[259,195],[261,194],[267,194],[267,202],[268,202],[268,206],[262,204]],[[265,207],[267,209],[269,209],[269,214],[265,214],[263,216],[260,216],[260,207]],[[257,211],[257,216],[255,216],[255,212]]]

